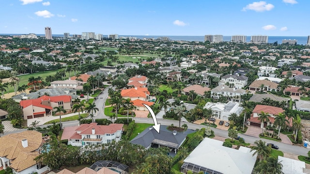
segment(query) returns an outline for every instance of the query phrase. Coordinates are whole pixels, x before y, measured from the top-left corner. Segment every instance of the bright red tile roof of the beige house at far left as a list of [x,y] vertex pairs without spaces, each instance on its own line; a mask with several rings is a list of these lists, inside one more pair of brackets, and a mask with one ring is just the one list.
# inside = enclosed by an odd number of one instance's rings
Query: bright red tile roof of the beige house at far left
[[69,95],[63,95],[63,96],[41,96],[37,99],[31,99],[31,100],[22,100],[19,102],[20,106],[23,108],[26,108],[30,105],[42,107],[46,109],[53,109],[51,106],[43,105],[42,101],[50,101],[50,102],[71,102],[72,97]]

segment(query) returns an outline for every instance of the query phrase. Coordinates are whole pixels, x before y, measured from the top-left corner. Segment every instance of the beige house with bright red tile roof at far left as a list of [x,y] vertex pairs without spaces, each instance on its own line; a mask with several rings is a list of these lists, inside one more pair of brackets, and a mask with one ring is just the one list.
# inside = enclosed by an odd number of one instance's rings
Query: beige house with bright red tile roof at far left
[[63,96],[42,96],[37,99],[22,100],[19,102],[23,109],[24,119],[31,119],[41,116],[50,116],[54,107],[62,106],[64,110],[70,111],[72,108],[72,97]]

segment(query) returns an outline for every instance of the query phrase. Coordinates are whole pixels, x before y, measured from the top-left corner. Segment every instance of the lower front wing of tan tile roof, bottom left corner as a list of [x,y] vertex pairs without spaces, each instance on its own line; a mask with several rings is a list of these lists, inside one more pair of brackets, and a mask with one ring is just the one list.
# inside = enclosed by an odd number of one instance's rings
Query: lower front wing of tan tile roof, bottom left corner
[[35,157],[39,156],[39,152],[20,152],[16,159],[10,161],[10,167],[13,168],[16,172],[21,172],[35,164],[37,162],[34,160]]

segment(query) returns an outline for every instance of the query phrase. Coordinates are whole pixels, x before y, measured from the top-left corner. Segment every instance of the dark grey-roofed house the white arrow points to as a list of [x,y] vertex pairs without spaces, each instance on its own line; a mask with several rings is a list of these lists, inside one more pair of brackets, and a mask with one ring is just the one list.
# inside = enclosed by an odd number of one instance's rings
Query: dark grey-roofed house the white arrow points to
[[167,130],[167,126],[160,126],[159,132],[160,133],[151,126],[138,134],[130,143],[142,145],[146,149],[150,147],[169,147],[176,153],[186,140],[185,133],[177,131],[171,132]]

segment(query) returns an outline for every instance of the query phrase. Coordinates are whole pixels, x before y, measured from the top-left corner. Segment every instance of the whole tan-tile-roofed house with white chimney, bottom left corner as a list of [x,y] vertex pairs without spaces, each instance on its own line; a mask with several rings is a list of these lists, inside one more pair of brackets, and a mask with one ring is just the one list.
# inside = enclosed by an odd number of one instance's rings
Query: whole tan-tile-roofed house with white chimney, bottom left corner
[[0,168],[11,167],[13,174],[42,174],[48,170],[34,160],[39,156],[42,145],[42,133],[23,131],[0,137]]

